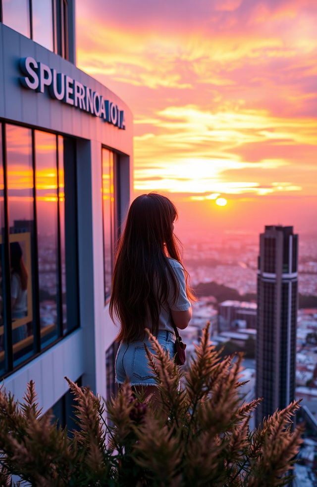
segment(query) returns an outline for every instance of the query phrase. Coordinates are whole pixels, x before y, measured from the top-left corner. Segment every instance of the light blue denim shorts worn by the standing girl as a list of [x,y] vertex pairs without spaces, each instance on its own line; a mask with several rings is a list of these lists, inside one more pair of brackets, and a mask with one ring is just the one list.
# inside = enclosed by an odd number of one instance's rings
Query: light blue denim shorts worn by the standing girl
[[[175,335],[167,330],[159,330],[157,335],[159,344],[170,357],[174,356]],[[144,343],[153,352],[149,340],[121,342],[115,358],[115,382],[123,384],[128,380],[131,386],[156,386],[152,369],[149,367],[148,356]]]

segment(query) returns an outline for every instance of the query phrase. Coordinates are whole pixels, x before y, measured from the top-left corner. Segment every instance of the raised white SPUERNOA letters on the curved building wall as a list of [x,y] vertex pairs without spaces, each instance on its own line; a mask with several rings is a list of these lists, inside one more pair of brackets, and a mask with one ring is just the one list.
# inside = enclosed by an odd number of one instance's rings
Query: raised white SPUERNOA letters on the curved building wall
[[25,88],[44,93],[47,87],[52,98],[103,118],[105,122],[119,129],[125,129],[124,111],[88,86],[64,73],[57,73],[56,69],[51,69],[43,62],[37,62],[31,56],[20,59],[20,68],[26,75],[20,77],[20,82]]

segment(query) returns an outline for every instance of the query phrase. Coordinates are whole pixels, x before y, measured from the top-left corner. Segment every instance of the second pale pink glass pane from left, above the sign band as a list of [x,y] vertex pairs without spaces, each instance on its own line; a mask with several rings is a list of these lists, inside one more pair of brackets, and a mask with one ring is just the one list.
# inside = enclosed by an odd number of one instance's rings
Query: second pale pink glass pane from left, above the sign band
[[52,0],[32,0],[33,40],[53,51]]

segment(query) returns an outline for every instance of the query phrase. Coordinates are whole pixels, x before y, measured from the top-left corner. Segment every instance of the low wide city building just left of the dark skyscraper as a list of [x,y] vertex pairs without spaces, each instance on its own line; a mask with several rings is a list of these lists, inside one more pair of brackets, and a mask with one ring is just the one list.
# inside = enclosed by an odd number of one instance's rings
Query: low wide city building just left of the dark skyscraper
[[257,327],[257,303],[228,299],[219,305],[219,332]]

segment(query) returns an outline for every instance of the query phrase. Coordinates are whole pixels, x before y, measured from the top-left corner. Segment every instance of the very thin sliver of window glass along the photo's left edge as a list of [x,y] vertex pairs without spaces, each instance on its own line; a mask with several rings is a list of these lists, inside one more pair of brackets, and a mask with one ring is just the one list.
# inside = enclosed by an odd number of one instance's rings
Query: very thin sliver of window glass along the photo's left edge
[[0,234],[0,376],[3,375],[4,373],[4,367],[5,367],[5,350],[4,350],[4,327],[3,327],[3,307],[4,307],[4,302],[3,302],[3,292],[2,292],[2,287],[3,287],[3,280],[4,280],[4,275],[3,275],[3,263],[4,263],[4,255],[3,255],[3,237],[4,237],[4,213],[3,213],[3,205],[4,205],[4,195],[3,195],[3,190],[4,190],[4,185],[3,185],[3,164],[2,164],[2,131],[1,131],[1,124],[0,124],[0,228],[1,228],[1,234]]

